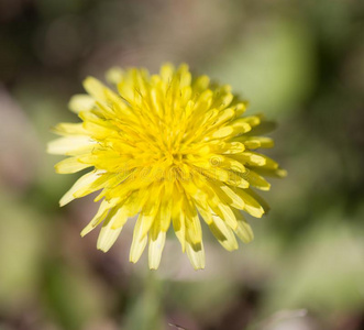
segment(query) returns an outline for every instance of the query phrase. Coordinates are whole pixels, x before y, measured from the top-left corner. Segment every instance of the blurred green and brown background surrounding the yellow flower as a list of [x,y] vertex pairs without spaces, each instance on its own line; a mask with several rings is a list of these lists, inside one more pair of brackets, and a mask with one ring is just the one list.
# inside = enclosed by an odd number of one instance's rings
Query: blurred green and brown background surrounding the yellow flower
[[[0,24],[1,330],[364,329],[364,1],[0,0]],[[201,272],[174,237],[157,272],[131,227],[108,254],[80,239],[97,205],[59,208],[77,176],[45,154],[87,75],[166,61],[276,120],[289,174],[249,245],[205,228]]]

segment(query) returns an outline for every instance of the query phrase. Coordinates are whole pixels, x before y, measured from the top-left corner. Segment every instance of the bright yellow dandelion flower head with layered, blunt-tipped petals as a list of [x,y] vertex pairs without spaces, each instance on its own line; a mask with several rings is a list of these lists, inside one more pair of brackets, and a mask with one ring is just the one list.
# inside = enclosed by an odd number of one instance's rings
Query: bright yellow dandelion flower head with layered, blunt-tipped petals
[[173,224],[183,252],[196,270],[205,267],[200,218],[229,251],[235,235],[247,243],[253,232],[241,211],[261,218],[267,206],[252,189],[268,190],[264,176],[285,175],[272,158],[257,153],[272,147],[262,116],[242,117],[246,102],[229,85],[192,78],[188,66],[146,69],[113,68],[114,89],[88,77],[88,95],[76,95],[69,108],[80,123],[59,123],[62,135],[48,152],[68,157],[55,165],[60,174],[91,168],[60,199],[100,191],[102,200],[86,235],[102,228],[97,248],[107,252],[129,218],[137,216],[130,261],[148,243],[148,264],[157,268],[166,233]]

